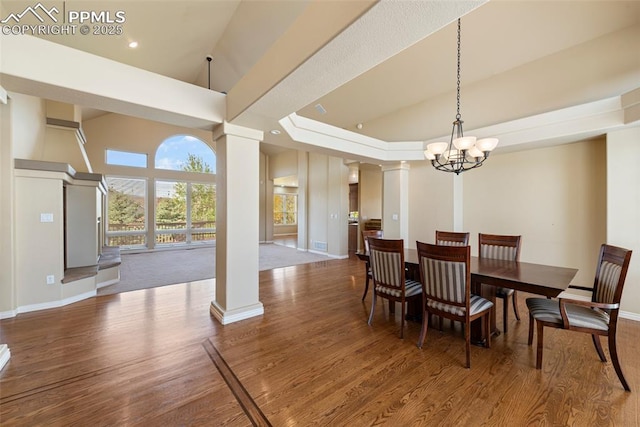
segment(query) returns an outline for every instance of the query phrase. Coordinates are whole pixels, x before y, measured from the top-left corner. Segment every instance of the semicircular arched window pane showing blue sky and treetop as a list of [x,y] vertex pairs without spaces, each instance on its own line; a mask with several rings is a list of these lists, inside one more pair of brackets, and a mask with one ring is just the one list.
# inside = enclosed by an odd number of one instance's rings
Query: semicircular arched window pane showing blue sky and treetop
[[216,155],[194,136],[174,135],[158,146],[155,168],[215,174]]

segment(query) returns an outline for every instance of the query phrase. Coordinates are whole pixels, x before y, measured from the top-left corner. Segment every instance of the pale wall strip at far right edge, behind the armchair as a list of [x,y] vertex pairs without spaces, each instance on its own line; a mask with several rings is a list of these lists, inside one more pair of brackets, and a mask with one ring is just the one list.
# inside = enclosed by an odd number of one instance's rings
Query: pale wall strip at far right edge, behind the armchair
[[607,243],[631,249],[622,310],[640,320],[640,127],[607,135]]

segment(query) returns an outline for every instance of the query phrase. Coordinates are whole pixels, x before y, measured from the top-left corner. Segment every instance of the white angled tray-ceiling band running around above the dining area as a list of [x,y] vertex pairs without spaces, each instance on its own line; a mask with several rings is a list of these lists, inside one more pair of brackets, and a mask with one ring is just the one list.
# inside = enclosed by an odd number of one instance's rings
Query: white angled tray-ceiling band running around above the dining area
[[[467,133],[499,138],[497,152],[574,142],[622,128],[625,113],[630,117],[627,121],[635,120],[635,114],[640,118],[640,104],[636,102],[640,95],[631,91],[624,96],[625,105],[628,105],[626,109],[619,95],[497,125],[467,129]],[[291,139],[299,143],[297,149],[306,149],[306,144],[320,148],[326,154],[364,161],[424,160],[423,150],[429,142],[448,138],[439,136],[428,141],[387,142],[296,113],[283,117],[279,123]]]

